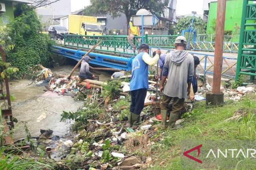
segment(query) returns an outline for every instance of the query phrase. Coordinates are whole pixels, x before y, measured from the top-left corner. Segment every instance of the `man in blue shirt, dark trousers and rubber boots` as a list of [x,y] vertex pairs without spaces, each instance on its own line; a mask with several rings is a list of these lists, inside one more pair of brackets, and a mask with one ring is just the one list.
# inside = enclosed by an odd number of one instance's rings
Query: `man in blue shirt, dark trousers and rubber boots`
[[151,58],[148,52],[148,45],[141,44],[138,54],[132,61],[130,80],[130,127],[140,124],[140,113],[144,107],[144,101],[148,89],[148,65],[154,66],[159,59],[159,54],[156,54],[155,57]]

